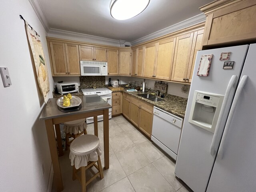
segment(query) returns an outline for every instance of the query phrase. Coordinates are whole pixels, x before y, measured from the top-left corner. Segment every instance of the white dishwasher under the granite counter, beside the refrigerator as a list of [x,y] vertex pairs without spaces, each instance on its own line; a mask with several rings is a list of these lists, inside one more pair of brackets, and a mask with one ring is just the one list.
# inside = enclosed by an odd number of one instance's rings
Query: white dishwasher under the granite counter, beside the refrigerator
[[176,160],[183,119],[155,106],[153,113],[151,140]]

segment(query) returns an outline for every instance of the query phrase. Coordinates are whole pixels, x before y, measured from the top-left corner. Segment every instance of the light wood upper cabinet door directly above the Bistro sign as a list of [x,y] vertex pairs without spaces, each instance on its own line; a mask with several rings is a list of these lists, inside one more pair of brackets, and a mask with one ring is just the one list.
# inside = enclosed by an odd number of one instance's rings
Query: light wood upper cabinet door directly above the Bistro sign
[[176,38],[169,38],[159,42],[156,62],[156,78],[170,80],[174,58]]

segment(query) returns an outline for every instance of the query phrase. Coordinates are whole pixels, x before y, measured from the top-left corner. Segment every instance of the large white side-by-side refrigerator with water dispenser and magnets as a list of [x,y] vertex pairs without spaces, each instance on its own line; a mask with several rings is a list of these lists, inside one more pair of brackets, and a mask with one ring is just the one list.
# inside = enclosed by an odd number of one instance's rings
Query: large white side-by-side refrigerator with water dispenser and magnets
[[[197,52],[175,168],[176,176],[194,192],[256,191],[256,44],[248,47]],[[226,52],[231,52],[228,61],[234,61],[232,69],[223,69],[220,54]],[[201,55],[208,54],[213,54],[209,75],[197,76]],[[198,92],[206,103],[210,95],[224,96],[216,106],[221,109],[219,113],[215,110],[214,131],[192,122],[200,113],[192,107]],[[203,124],[206,118],[198,117]],[[214,118],[208,116],[208,120]]]

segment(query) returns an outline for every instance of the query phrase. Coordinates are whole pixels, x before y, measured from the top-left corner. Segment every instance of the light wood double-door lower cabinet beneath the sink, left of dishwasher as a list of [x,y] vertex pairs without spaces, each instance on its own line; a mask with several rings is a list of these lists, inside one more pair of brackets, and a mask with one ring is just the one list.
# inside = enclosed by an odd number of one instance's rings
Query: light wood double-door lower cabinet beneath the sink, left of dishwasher
[[128,118],[136,127],[151,137],[153,124],[153,105],[128,96],[123,92],[123,115]]

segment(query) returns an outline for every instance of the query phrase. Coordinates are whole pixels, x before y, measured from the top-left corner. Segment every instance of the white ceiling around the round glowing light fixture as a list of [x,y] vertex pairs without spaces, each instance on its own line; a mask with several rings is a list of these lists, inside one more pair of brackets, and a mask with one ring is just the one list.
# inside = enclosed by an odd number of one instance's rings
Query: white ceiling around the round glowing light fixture
[[110,15],[111,0],[38,0],[49,29],[132,42],[201,14],[212,0],[150,0],[146,10],[128,20]]

